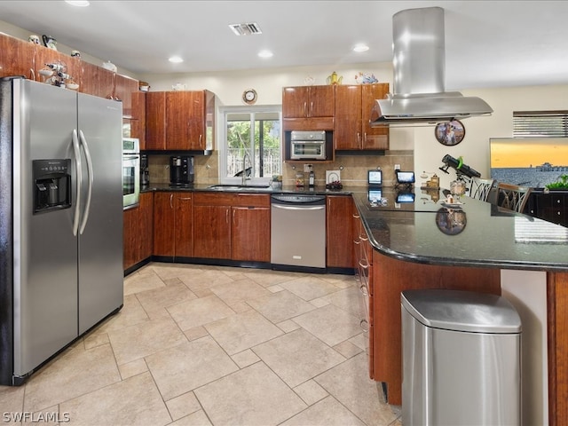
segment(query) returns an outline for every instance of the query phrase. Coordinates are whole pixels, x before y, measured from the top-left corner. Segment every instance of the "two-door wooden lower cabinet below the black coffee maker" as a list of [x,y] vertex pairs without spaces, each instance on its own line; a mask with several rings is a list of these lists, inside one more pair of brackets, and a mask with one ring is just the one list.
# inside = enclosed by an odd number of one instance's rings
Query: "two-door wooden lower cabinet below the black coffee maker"
[[154,194],[154,256],[193,256],[193,193]]

